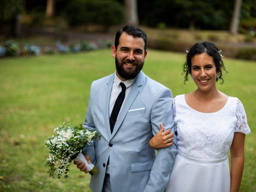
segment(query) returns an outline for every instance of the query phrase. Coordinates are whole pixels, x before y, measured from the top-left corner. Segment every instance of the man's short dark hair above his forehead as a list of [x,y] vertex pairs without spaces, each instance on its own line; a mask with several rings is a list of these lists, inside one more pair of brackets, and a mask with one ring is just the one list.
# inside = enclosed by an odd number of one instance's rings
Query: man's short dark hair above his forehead
[[137,26],[132,26],[132,25],[126,25],[124,26],[124,28],[118,30],[118,32],[116,32],[116,38],[115,38],[115,47],[117,49],[117,46],[119,45],[119,39],[120,36],[123,34],[123,32],[127,33],[128,35],[135,37],[139,37],[142,38],[145,42],[145,46],[144,46],[144,50],[147,50],[147,43],[148,43],[148,38],[146,33],[141,30],[140,28],[138,28]]

